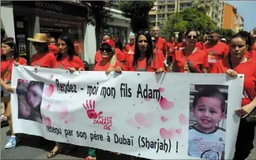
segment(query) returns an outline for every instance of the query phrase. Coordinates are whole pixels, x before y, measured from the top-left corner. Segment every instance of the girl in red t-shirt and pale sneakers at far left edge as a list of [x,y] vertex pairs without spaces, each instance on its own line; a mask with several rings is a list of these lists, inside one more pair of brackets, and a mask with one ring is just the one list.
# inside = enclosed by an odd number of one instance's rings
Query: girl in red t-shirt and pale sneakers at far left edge
[[1,115],[2,118],[8,120],[11,137],[6,144],[5,148],[14,147],[18,143],[18,139],[13,133],[13,123],[11,114],[11,102],[10,94],[13,93],[13,88],[10,87],[12,79],[13,65],[19,63],[21,65],[27,65],[27,61],[24,58],[19,57],[19,53],[16,44],[13,42],[13,38],[6,38],[2,41],[2,55],[1,55],[1,85],[3,89],[3,96],[5,102],[5,116]]

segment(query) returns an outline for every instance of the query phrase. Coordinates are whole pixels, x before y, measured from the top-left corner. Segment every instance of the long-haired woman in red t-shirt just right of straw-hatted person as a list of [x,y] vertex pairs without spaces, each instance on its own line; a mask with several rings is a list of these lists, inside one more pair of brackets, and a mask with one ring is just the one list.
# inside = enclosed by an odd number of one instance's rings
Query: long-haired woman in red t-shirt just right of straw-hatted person
[[68,69],[71,73],[85,70],[85,65],[75,53],[73,41],[68,35],[60,35],[57,45],[59,52],[56,56],[55,69]]

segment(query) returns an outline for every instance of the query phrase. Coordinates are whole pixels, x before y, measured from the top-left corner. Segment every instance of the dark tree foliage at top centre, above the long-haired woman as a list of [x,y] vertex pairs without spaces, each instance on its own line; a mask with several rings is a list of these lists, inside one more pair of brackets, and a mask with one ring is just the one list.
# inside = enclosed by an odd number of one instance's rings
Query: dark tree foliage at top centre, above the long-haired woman
[[154,1],[120,1],[119,9],[122,15],[130,19],[132,32],[137,33],[149,29],[149,11]]

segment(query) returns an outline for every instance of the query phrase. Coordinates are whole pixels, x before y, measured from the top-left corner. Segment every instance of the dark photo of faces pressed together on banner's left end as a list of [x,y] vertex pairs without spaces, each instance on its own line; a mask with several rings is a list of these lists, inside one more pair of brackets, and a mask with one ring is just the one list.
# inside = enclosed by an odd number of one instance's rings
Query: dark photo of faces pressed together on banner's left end
[[17,82],[18,118],[43,123],[41,115],[41,102],[43,95],[43,82],[21,80]]

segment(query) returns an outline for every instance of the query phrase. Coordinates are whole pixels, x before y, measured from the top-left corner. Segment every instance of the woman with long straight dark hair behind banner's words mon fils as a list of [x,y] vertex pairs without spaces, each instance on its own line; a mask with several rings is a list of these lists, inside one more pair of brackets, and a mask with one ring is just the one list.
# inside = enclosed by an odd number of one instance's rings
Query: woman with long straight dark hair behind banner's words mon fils
[[135,39],[134,57],[128,61],[129,71],[164,72],[164,62],[153,54],[149,32],[139,32]]

